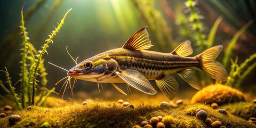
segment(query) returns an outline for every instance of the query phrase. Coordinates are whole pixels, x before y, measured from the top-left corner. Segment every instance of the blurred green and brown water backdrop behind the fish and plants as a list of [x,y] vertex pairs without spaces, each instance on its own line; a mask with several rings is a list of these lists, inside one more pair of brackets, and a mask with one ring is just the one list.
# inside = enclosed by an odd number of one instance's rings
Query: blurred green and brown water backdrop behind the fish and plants
[[[56,92],[60,91],[62,84],[55,86],[55,83],[67,76],[67,72],[48,62],[65,69],[74,67],[75,62],[67,54],[66,46],[74,58],[79,57],[77,62],[80,62],[98,53],[122,47],[135,31],[145,26],[148,26],[150,39],[154,45],[150,50],[169,53],[181,42],[189,39],[193,46],[193,55],[196,55],[209,45],[207,38],[210,35],[210,30],[215,20],[221,17],[222,20],[218,25],[212,46],[224,46],[222,53],[217,58],[222,63],[223,54],[226,52],[230,40],[239,29],[251,21],[251,25],[231,47],[231,55],[225,66],[228,73],[231,66],[230,59],[235,60],[238,57],[237,63],[242,63],[255,53],[255,1],[199,0],[191,8],[185,2],[187,1],[1,1],[0,69],[5,70],[4,67],[6,67],[9,70],[13,84],[19,80],[20,49],[22,47],[19,25],[21,7],[24,3],[23,13],[26,31],[30,38],[29,42],[37,50],[41,49],[54,27],[58,26],[57,22],[60,22],[62,15],[69,9],[73,9],[68,14],[57,36],[54,37],[54,43],[49,45],[48,54],[43,56],[48,80],[47,88],[55,87]],[[256,70],[253,69],[239,89],[248,92],[255,90],[255,73]],[[203,85],[214,83],[208,76],[202,74],[204,73],[198,71],[198,77],[204,83]],[[6,79],[4,73],[1,73],[0,76],[3,81]],[[182,79],[177,77],[177,81],[180,85],[179,96],[184,94],[182,91],[196,92]],[[19,83],[15,87],[19,92]],[[110,91],[109,98],[119,94],[111,84],[103,84],[103,87],[104,91]],[[121,89],[125,89],[125,85],[121,86]],[[3,90],[0,91],[5,95]],[[101,95],[99,97],[108,99],[108,96],[98,92],[97,83],[78,80],[74,92],[80,91],[86,93],[95,91],[95,94]],[[141,93],[133,89],[132,92]],[[71,97],[69,92],[66,93],[66,98],[68,97]],[[97,96],[94,95],[94,97]]]

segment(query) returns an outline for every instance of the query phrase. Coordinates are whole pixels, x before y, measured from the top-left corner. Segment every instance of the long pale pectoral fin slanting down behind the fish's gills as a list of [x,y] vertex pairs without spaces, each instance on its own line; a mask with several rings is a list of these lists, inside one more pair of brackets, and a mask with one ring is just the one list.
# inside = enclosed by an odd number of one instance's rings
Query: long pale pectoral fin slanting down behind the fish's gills
[[116,75],[121,77],[128,85],[140,90],[147,94],[156,94],[156,90],[149,83],[148,79],[143,76],[139,71],[126,69],[122,71],[116,71]]

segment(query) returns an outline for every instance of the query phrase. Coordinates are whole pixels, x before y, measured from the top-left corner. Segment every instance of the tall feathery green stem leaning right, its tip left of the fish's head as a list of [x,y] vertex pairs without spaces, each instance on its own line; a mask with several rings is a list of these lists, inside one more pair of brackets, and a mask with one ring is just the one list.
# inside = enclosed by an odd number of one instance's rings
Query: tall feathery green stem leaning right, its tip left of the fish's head
[[[49,46],[49,43],[53,43],[52,41],[52,38],[54,36],[57,35],[58,31],[60,30],[60,28],[62,27],[63,23],[64,23],[64,20],[65,18],[67,17],[67,14],[71,11],[72,9],[68,10],[66,12],[66,14],[64,15],[64,17],[62,18],[62,20],[60,21],[59,25],[57,28],[55,28],[55,30],[52,31],[52,33],[49,35],[49,39],[46,39],[45,40],[45,44],[42,46],[42,50],[38,51],[37,52],[37,55],[36,55],[36,63],[34,65],[34,75],[33,75],[33,86],[32,86],[32,101],[31,101],[31,105],[34,105],[35,104],[35,87],[36,87],[36,77],[37,77],[37,70],[38,70],[38,67],[39,67],[39,64],[41,63],[42,61],[42,57],[43,57],[43,54],[44,53],[47,53],[46,51],[46,48]],[[48,53],[47,53],[48,54]]]

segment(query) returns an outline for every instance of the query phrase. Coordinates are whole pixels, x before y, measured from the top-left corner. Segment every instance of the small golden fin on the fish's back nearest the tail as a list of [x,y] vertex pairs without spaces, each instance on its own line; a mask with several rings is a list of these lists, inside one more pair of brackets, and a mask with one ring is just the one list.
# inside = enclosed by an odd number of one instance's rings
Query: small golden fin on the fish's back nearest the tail
[[193,53],[190,41],[185,41],[181,43],[176,49],[171,52],[172,54],[179,55],[180,57],[187,57]]

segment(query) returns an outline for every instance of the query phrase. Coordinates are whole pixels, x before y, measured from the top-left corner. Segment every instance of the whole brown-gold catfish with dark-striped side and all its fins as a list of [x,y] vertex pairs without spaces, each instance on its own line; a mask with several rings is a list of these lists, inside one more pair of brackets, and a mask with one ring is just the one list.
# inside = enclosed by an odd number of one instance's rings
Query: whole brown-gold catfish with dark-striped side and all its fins
[[149,83],[155,80],[166,97],[173,99],[178,91],[178,83],[171,75],[177,73],[189,85],[197,90],[202,88],[193,68],[205,71],[207,75],[220,81],[227,81],[227,71],[215,61],[222,46],[187,57],[193,53],[191,43],[181,43],[173,52],[162,53],[147,51],[151,46],[146,28],[138,30],[122,48],[106,51],[78,63],[68,71],[68,75],[77,79],[98,83],[111,83],[125,94],[115,83],[126,83],[147,94],[157,92]]

